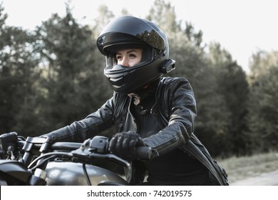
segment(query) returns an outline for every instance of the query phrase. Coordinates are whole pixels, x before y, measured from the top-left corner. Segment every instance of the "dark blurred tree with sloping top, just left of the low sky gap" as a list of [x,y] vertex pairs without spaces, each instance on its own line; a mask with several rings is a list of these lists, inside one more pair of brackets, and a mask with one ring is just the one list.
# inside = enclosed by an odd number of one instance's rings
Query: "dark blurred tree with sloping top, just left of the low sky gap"
[[222,133],[222,149],[228,154],[246,154],[249,143],[246,134],[249,100],[246,74],[232,60],[230,53],[221,49],[220,44],[210,44],[210,61],[216,78],[216,91],[224,105],[218,117],[227,122]]

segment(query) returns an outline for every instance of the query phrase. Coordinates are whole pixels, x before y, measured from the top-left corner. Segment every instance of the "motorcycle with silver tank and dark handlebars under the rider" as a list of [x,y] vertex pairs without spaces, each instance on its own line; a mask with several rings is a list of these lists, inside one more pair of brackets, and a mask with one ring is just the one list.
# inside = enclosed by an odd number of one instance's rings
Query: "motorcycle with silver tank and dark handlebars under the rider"
[[[26,186],[128,186],[132,168],[128,161],[109,152],[109,140],[95,136],[83,143],[53,142],[16,132],[0,136],[0,185]],[[150,159],[151,149],[138,146],[139,159]],[[118,164],[125,177],[96,166],[97,161]]]

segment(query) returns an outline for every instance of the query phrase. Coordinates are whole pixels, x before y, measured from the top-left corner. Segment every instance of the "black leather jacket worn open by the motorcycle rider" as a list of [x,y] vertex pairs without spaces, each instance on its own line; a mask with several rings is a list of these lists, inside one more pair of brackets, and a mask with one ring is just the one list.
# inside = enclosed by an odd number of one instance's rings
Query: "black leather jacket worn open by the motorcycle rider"
[[[136,132],[136,121],[129,110],[131,101],[128,95],[114,93],[111,99],[86,119],[75,121],[44,136],[51,136],[55,141],[83,142],[114,125],[116,132]],[[161,79],[151,113],[160,126],[165,128],[143,139],[145,144],[155,149],[158,154],[180,148],[207,166],[214,184],[228,185],[225,170],[218,166],[205,146],[193,134],[196,102],[187,79],[170,77]],[[136,176],[143,178],[142,174]],[[135,182],[137,181],[133,181]]]

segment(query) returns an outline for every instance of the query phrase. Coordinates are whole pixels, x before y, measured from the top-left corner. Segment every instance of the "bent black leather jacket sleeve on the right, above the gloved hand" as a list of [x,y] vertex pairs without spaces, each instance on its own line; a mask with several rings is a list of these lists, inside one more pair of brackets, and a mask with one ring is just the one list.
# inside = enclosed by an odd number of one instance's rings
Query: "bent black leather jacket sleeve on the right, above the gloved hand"
[[[161,155],[176,149],[190,139],[197,111],[192,87],[186,79],[172,79],[164,87],[159,98],[163,101],[160,105],[167,105],[162,106],[163,109],[160,106],[159,109],[160,117],[165,119],[165,128],[143,141]],[[161,113],[163,111],[169,114]]]

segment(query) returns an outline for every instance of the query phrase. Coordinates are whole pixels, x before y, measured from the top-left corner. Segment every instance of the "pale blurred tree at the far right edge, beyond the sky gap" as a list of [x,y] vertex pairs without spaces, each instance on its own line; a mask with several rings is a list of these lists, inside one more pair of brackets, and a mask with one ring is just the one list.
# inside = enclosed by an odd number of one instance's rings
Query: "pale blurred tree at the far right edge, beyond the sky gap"
[[278,147],[278,51],[258,51],[250,65],[249,129],[253,151]]

